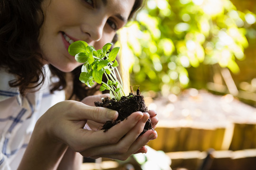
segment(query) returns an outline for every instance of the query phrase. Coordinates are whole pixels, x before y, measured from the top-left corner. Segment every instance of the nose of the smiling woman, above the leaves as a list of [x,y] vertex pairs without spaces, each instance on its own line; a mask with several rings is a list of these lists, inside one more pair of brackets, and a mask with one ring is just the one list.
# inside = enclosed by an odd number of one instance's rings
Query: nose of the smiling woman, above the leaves
[[106,19],[97,18],[92,20],[90,23],[82,24],[81,29],[83,33],[90,35],[91,41],[99,41],[103,34]]

